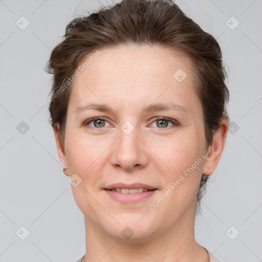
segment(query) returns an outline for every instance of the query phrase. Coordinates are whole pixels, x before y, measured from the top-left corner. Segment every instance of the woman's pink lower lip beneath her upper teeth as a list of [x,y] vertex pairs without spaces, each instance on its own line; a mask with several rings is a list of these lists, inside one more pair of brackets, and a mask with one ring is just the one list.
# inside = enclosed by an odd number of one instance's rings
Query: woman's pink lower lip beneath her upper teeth
[[121,203],[136,203],[136,202],[139,202],[141,200],[151,197],[151,195],[157,191],[157,189],[154,189],[154,190],[143,191],[141,193],[124,194],[118,191],[111,191],[111,190],[106,190],[106,189],[103,189],[103,190],[107,194],[109,194],[111,198],[118,200]]

